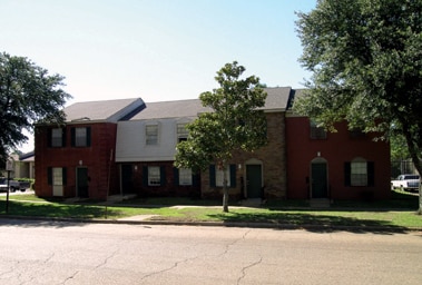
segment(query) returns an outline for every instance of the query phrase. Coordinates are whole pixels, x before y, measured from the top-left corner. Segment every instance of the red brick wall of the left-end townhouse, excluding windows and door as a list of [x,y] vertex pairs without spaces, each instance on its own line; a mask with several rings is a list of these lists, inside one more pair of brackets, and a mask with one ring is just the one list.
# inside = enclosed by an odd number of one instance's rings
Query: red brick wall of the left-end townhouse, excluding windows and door
[[[71,127],[90,127],[90,147],[71,146]],[[61,167],[67,169],[67,184],[63,188],[65,197],[75,197],[76,169],[87,167],[90,198],[106,198],[110,194],[119,193],[117,180],[117,166],[110,161],[110,151],[116,145],[116,124],[78,124],[67,125],[66,146],[49,147],[48,129],[51,127],[37,127],[36,130],[36,194],[42,197],[52,196],[52,186],[48,184],[48,168]],[[114,154],[112,154],[114,156]],[[110,179],[109,179],[110,177]],[[110,187],[109,187],[110,186]]]

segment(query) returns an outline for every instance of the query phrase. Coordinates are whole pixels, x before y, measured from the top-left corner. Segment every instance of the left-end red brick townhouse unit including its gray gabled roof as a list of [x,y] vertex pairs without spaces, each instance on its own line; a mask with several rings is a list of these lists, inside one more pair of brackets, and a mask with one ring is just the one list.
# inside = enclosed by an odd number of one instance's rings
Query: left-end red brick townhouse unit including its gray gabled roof
[[36,194],[106,198],[118,189],[117,122],[145,107],[141,99],[78,102],[65,126],[36,126]]

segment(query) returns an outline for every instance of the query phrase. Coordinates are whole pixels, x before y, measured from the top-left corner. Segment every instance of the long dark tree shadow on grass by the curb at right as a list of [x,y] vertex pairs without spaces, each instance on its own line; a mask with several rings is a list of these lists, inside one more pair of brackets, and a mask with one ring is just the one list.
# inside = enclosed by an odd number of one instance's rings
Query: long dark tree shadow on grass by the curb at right
[[406,233],[409,228],[395,226],[384,220],[356,219],[330,215],[312,215],[306,213],[222,213],[210,214],[212,218],[220,219],[227,225],[232,223],[258,224],[262,227],[278,229],[302,228],[314,233],[351,232],[396,234]]

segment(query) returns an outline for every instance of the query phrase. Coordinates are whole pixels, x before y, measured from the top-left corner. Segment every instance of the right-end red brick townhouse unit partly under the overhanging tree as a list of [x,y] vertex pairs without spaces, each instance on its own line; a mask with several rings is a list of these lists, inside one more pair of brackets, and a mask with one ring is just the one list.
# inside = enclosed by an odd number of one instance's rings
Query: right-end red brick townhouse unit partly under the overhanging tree
[[326,132],[307,117],[286,114],[287,198],[383,199],[390,197],[390,145],[376,134]]

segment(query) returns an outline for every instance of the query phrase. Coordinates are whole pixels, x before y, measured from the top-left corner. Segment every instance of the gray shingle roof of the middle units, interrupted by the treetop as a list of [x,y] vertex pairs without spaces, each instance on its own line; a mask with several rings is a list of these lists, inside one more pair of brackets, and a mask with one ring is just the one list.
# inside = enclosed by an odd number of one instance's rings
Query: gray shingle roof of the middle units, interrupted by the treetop
[[[291,87],[265,88],[267,98],[262,108],[267,111],[283,111],[287,107]],[[133,120],[196,117],[200,112],[210,111],[199,99],[146,102],[146,108],[134,116]]]

